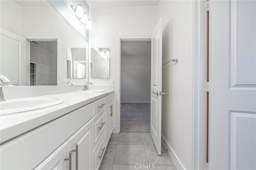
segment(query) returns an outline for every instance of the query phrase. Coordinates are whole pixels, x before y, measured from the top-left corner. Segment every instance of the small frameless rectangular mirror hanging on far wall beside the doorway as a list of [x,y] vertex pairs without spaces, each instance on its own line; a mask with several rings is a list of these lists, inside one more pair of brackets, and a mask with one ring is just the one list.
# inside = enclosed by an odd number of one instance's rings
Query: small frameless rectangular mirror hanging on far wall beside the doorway
[[109,78],[109,48],[91,48],[91,78]]

